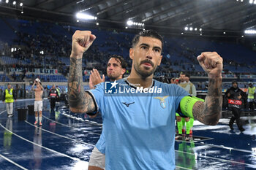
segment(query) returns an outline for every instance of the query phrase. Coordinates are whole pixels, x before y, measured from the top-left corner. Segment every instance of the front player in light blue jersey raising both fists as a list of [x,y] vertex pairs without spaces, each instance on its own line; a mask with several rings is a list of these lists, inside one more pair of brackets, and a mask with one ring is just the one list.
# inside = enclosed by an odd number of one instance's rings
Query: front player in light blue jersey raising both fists
[[222,58],[201,53],[200,66],[208,73],[205,102],[188,96],[177,85],[153,80],[162,60],[162,36],[141,31],[132,40],[127,79],[105,82],[83,91],[83,53],[96,39],[91,31],[75,31],[69,69],[69,107],[89,115],[102,112],[105,128],[105,169],[175,169],[175,112],[216,125],[222,111]]

